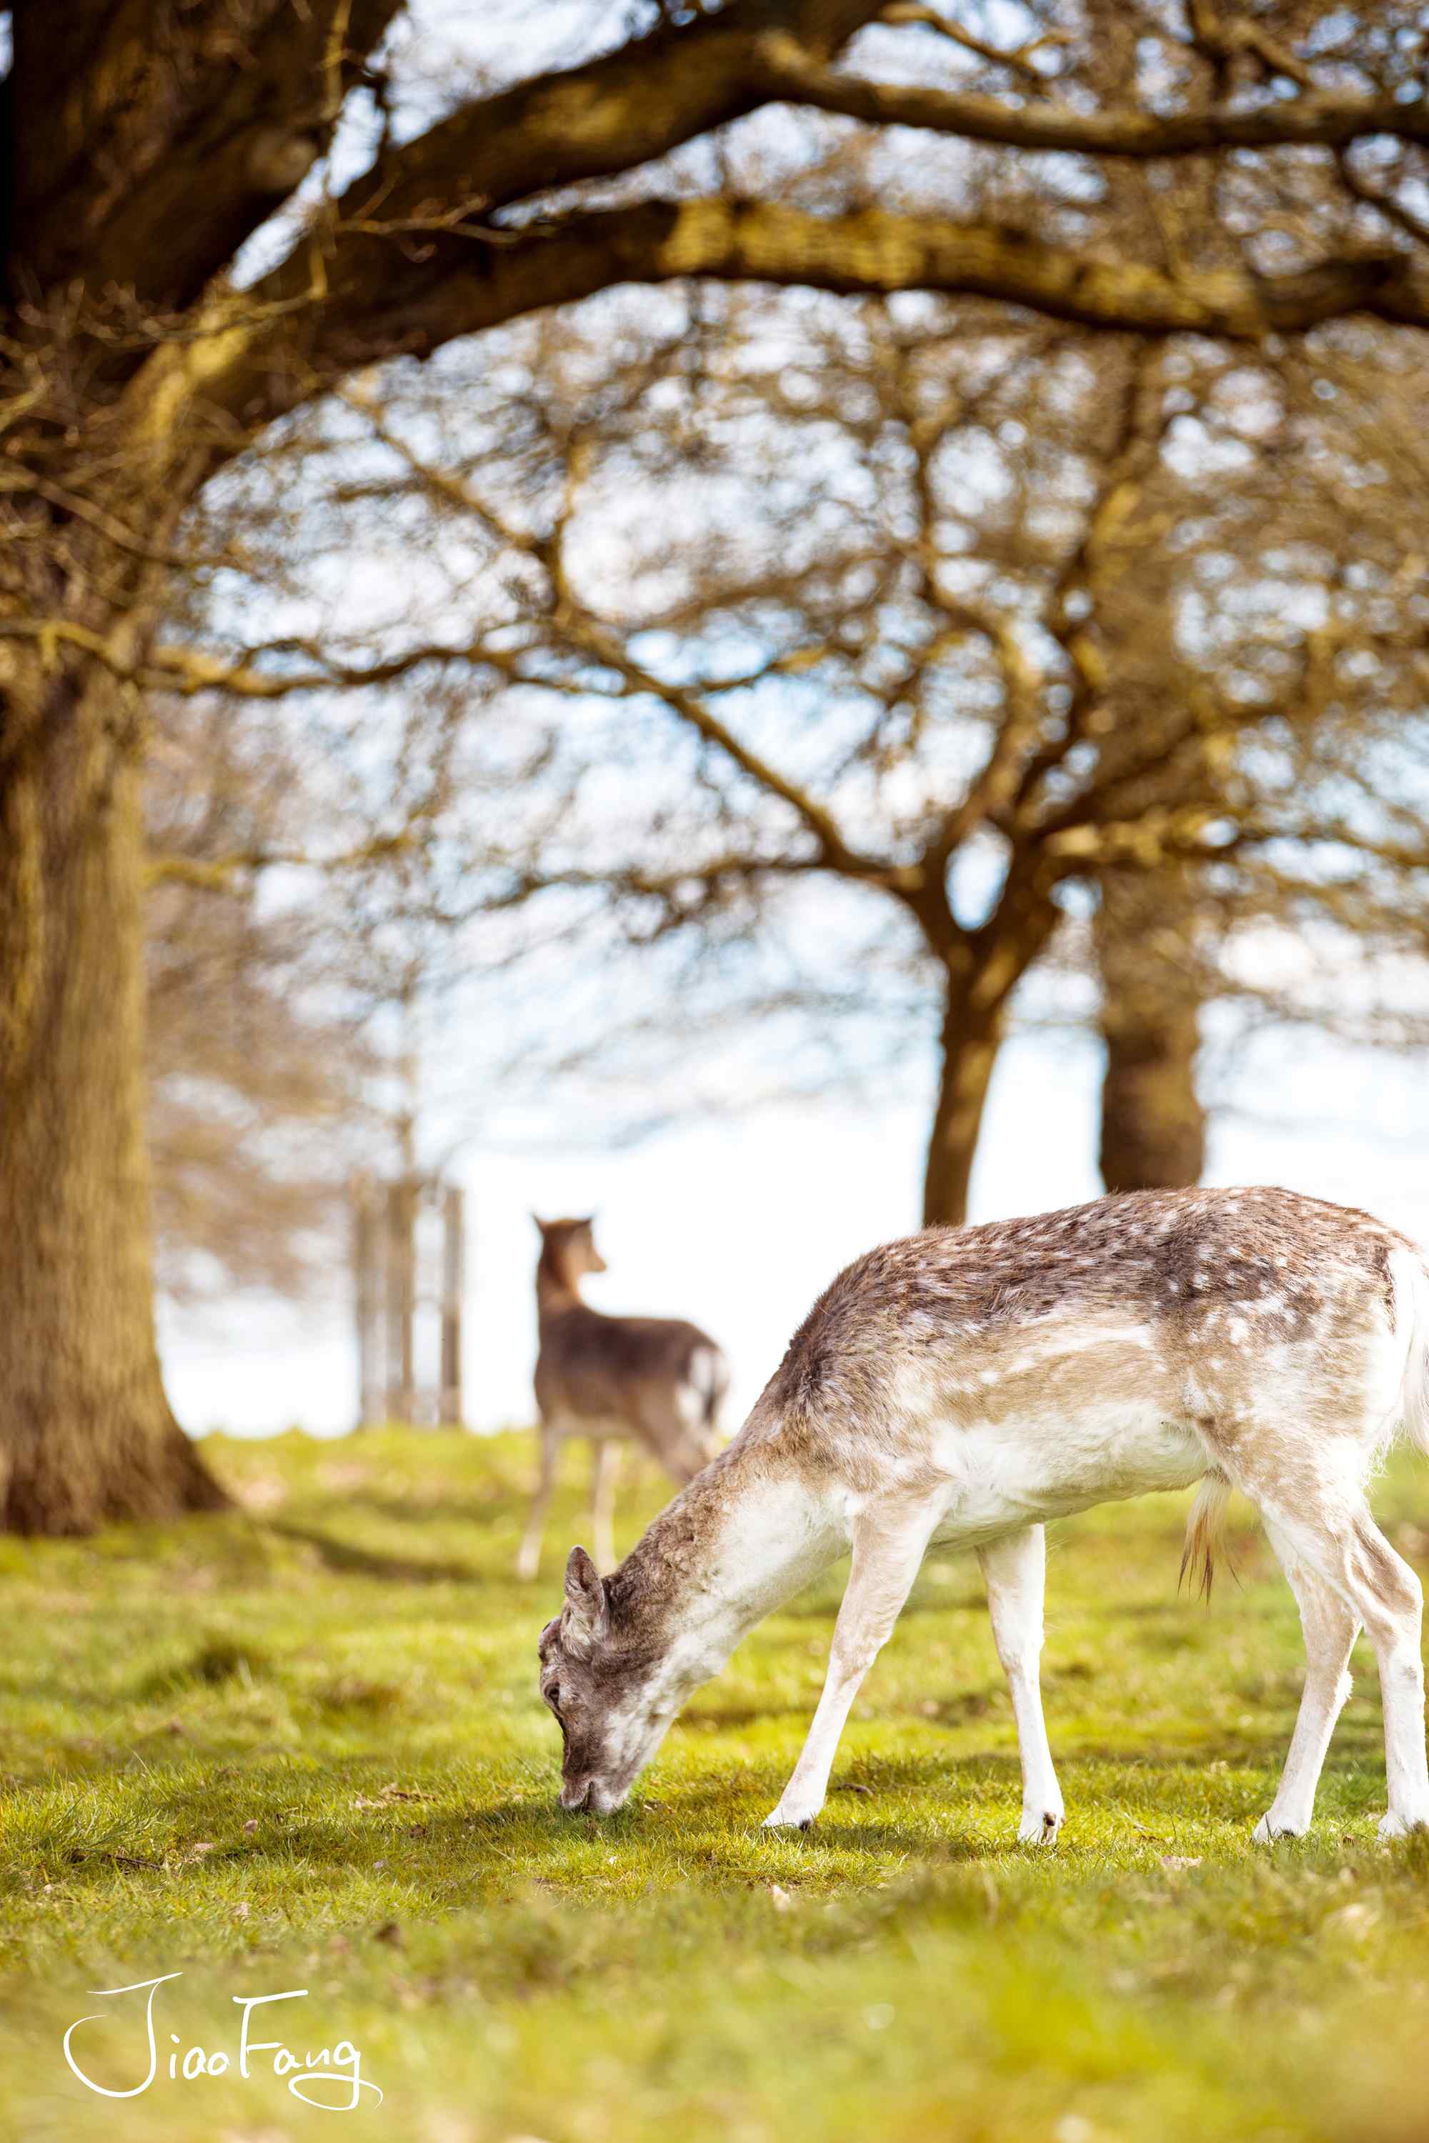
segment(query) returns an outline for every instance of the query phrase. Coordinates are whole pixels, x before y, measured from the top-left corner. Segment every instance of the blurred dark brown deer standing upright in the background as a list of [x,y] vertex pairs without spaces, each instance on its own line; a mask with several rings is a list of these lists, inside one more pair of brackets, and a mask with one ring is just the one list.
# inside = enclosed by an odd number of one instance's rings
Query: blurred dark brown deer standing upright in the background
[[546,1504],[561,1442],[589,1436],[596,1444],[591,1526],[596,1560],[615,1562],[611,1513],[621,1442],[638,1442],[677,1479],[692,1481],[718,1451],[720,1402],[728,1365],[709,1333],[683,1318],[606,1318],[581,1301],[587,1273],[604,1273],[593,1222],[538,1219],[536,1406],[540,1408],[540,1481],[531,1502],[518,1577],[536,1577]]

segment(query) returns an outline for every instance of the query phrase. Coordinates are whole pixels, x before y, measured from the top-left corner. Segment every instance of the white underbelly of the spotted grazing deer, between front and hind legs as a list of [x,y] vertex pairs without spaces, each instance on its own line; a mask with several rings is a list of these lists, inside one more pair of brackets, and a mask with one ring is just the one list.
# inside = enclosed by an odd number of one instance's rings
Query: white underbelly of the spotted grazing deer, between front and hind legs
[[1071,1419],[947,1427],[936,1462],[947,1487],[934,1541],[973,1543],[1097,1502],[1189,1487],[1208,1455],[1189,1425],[1123,1402]]

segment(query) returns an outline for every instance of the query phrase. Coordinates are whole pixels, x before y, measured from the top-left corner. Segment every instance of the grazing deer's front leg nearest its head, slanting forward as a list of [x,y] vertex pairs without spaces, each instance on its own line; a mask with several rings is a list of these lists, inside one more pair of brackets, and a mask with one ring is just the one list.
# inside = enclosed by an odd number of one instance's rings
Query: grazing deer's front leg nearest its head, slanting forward
[[855,1519],[853,1567],[833,1624],[829,1674],[793,1779],[778,1809],[765,1817],[765,1830],[808,1830],[823,1809],[844,1721],[913,1590],[934,1522],[928,1511],[902,1511],[898,1517],[866,1511]]

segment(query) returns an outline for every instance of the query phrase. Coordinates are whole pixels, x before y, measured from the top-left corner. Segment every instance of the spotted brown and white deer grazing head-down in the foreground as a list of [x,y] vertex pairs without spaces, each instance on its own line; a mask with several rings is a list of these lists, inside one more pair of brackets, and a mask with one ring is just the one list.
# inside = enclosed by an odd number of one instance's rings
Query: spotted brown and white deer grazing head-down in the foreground
[[767,1817],[818,1815],[848,1708],[930,1545],[973,1547],[1022,1751],[1022,1839],[1063,1796],[1037,1687],[1043,1519],[1189,1487],[1208,1586],[1232,1487],[1305,1629],[1305,1695],[1258,1839],[1307,1830],[1365,1627],[1388,1815],[1429,1826],[1420,1584],[1365,1502],[1403,1427],[1429,1451],[1429,1267],[1367,1213],[1281,1189],[1133,1192],[930,1228],[814,1303],[743,1429],[602,1579],[585,1549],[540,1637],[568,1809],[617,1809],[679,1706],[763,1616],[853,1549],[818,1710]]

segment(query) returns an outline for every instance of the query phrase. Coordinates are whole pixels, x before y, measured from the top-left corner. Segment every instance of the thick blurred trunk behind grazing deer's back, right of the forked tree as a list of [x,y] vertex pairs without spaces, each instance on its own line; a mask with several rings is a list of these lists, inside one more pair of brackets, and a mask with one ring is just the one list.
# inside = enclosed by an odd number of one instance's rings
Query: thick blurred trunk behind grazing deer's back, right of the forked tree
[[1195,1093],[1202,986],[1193,883],[1112,879],[1095,924],[1101,971],[1101,1181],[1110,1192],[1180,1189],[1206,1166]]

